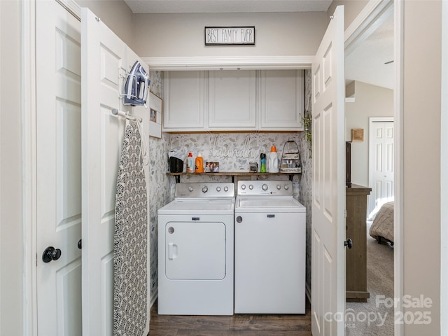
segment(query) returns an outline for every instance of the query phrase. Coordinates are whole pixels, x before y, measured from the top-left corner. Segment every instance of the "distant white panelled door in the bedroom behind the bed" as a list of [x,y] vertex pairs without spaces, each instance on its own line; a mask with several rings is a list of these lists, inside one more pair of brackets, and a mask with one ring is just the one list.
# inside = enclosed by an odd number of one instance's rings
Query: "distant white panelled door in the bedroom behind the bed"
[[[369,195],[367,217],[393,201],[393,118],[373,118],[369,127]],[[379,119],[377,121],[376,119]],[[381,121],[380,121],[381,120]]]

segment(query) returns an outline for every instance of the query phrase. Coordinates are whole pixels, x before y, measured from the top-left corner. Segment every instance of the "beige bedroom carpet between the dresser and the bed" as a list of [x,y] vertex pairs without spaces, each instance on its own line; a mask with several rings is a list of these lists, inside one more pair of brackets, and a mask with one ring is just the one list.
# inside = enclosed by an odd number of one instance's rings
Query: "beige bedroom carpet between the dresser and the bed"
[[[346,336],[393,336],[393,248],[367,236],[367,302],[346,302]],[[388,301],[387,301],[388,300]],[[348,318],[352,317],[352,320]]]

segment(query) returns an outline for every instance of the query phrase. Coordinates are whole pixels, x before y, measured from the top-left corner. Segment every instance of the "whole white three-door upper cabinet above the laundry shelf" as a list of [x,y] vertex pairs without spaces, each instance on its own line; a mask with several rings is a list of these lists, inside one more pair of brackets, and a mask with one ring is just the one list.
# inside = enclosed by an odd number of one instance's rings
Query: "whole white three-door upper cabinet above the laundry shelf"
[[163,131],[302,131],[302,70],[166,71]]

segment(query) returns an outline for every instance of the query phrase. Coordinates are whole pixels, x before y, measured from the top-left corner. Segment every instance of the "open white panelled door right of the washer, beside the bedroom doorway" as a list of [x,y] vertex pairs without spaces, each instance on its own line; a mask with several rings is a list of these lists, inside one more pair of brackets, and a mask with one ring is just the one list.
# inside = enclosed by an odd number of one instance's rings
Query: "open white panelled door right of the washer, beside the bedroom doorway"
[[344,335],[344,7],[337,6],[311,66],[313,196],[311,331]]

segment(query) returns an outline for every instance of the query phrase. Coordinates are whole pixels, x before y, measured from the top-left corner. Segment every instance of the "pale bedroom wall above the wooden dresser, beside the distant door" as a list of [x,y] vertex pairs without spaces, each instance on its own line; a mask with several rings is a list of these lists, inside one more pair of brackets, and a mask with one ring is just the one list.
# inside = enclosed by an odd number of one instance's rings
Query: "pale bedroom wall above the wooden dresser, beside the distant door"
[[364,141],[351,143],[351,183],[369,186],[369,118],[393,117],[393,90],[355,82],[355,102],[345,104],[346,141],[362,128]]

